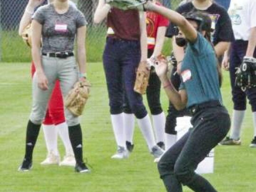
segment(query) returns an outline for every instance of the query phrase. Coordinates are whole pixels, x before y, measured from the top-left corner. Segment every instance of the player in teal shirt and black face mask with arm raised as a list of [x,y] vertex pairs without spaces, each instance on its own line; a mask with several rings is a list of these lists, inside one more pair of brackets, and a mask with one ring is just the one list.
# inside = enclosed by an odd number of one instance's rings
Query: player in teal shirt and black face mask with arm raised
[[169,100],[176,109],[187,107],[191,111],[193,125],[160,159],[161,179],[168,192],[182,192],[182,185],[195,192],[217,192],[206,179],[194,172],[230,127],[229,114],[222,105],[219,89],[218,61],[209,38],[210,17],[198,12],[183,17],[151,3],[146,6],[178,25],[187,42],[179,91],[174,89],[166,75],[167,63],[159,61],[155,67]]

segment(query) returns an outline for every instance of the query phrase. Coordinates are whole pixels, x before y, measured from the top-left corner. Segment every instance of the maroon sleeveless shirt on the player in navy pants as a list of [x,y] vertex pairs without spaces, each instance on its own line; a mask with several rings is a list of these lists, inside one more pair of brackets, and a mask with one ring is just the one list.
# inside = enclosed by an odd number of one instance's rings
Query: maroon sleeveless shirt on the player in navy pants
[[[140,40],[139,13],[137,10],[111,8],[107,17],[108,37]],[[112,30],[111,30],[112,29]]]

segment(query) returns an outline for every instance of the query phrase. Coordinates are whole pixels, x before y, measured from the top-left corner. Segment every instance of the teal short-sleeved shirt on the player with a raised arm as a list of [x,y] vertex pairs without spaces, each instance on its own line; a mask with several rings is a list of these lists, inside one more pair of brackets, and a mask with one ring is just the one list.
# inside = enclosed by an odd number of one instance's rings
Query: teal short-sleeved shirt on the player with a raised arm
[[217,65],[212,46],[198,33],[196,42],[188,43],[181,67],[180,90],[187,92],[187,107],[210,100],[222,103]]

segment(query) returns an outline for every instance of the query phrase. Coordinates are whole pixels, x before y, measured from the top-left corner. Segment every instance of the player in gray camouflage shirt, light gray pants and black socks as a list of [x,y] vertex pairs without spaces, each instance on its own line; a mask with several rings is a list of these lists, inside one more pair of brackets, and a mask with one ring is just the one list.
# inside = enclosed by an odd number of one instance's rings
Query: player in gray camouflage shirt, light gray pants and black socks
[[[83,14],[69,6],[67,0],[55,0],[53,4],[42,6],[33,16],[32,56],[36,73],[32,84],[33,107],[27,124],[26,153],[19,167],[20,171],[27,171],[32,167],[33,149],[56,79],[59,79],[63,97],[75,82],[85,80],[86,24]],[[73,54],[75,36],[79,50],[79,71]],[[65,117],[76,160],[75,171],[89,172],[82,159],[82,130],[79,119],[68,109],[65,109]]]

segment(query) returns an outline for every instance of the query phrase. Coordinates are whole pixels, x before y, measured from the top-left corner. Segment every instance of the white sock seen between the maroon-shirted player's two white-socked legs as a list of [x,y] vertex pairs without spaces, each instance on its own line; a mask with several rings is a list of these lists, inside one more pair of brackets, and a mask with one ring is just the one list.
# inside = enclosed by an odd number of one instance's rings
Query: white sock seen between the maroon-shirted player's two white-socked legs
[[133,144],[135,117],[133,114],[123,113],[125,140]]

